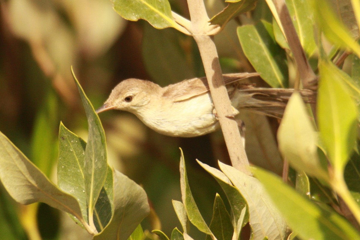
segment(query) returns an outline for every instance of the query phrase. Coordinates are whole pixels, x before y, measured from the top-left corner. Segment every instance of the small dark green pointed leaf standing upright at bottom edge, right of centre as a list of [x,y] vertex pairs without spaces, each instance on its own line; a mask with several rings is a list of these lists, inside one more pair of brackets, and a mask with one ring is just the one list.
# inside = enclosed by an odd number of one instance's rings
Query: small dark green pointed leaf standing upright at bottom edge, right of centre
[[[219,194],[215,196],[212,219],[209,227],[218,240],[231,240],[233,237],[234,227]],[[206,235],[206,240],[210,239],[211,237]]]

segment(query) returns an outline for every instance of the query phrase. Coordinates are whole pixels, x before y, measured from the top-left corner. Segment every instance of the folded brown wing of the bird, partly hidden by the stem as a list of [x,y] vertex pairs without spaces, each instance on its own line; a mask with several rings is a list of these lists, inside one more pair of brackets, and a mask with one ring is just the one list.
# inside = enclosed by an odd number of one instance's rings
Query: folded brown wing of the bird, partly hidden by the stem
[[[225,85],[238,82],[240,80],[259,76],[259,73],[230,73],[222,75]],[[174,102],[184,101],[209,91],[206,77],[192,78],[164,87],[162,94],[165,98],[173,99]]]

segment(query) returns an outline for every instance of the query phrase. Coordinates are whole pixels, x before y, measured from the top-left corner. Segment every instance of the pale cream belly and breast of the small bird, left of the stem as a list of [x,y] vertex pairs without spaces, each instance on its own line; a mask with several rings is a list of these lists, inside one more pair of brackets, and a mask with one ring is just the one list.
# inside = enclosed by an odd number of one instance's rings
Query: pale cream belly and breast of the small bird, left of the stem
[[210,133],[218,127],[212,113],[213,105],[208,94],[173,103],[157,109],[152,118],[143,122],[153,130],[168,136],[195,137]]

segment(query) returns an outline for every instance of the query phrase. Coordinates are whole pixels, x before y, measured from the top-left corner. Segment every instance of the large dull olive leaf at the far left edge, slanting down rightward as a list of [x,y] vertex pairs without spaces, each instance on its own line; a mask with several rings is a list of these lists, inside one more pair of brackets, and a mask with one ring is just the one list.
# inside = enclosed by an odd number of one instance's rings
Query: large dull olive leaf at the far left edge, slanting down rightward
[[38,201],[82,219],[76,199],[58,189],[27,157],[0,132],[0,180],[15,201]]

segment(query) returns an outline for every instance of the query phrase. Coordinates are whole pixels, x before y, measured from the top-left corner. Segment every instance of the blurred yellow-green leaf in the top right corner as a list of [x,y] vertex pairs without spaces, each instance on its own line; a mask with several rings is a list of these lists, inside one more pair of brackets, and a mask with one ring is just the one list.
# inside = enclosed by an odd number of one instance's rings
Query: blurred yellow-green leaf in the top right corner
[[360,57],[360,45],[352,38],[348,29],[339,21],[327,1],[312,0],[314,15],[327,39],[343,49],[354,51]]

